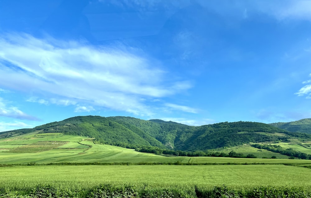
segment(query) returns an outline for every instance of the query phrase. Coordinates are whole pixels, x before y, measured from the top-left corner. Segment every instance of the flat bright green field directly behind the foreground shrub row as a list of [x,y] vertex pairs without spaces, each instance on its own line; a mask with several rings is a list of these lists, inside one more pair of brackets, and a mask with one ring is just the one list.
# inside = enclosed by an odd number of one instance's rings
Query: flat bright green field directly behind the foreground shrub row
[[191,190],[195,185],[212,188],[222,184],[236,189],[272,185],[303,186],[311,190],[311,169],[285,165],[22,166],[0,167],[0,177],[0,188],[16,190],[30,189],[40,183],[87,189],[105,182],[183,190]]

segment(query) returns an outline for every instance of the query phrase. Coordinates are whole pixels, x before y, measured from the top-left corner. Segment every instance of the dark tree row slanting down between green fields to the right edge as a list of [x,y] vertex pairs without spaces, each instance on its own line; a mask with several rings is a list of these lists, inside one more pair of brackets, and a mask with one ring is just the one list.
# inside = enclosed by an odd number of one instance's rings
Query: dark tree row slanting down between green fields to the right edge
[[280,145],[271,145],[271,144],[253,144],[253,147],[257,149],[266,149],[275,153],[281,153],[283,155],[287,155],[290,157],[295,157],[299,159],[311,159],[311,155],[307,153],[301,153],[299,151],[295,151],[294,149],[284,149]]

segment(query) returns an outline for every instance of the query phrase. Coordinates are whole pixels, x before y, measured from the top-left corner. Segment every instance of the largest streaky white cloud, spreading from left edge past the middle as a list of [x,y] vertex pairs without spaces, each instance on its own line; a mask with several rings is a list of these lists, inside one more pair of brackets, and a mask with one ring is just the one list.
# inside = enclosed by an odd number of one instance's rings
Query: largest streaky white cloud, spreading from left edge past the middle
[[0,36],[0,46],[0,86],[58,98],[43,103],[67,106],[82,101],[152,115],[142,99],[166,97],[191,87],[187,81],[170,81],[172,74],[161,70],[157,60],[137,56],[131,52],[137,49],[124,46],[94,47],[26,34]]

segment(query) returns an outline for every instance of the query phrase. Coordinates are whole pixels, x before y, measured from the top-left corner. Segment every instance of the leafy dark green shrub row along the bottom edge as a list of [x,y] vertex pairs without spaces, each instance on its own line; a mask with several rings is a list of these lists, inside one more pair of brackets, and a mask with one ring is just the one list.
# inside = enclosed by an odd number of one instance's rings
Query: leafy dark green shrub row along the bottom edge
[[101,184],[89,190],[63,189],[39,184],[28,192],[0,189],[0,198],[311,198],[301,187],[258,186],[251,191],[215,186],[212,190],[194,187],[193,192],[179,189],[138,189],[132,185]]

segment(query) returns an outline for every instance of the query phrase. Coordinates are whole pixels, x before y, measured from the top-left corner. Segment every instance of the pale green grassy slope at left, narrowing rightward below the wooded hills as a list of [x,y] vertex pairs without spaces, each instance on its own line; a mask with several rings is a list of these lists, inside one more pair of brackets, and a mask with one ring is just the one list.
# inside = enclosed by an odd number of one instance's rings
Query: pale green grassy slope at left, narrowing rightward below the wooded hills
[[[6,151],[0,152],[1,163],[18,164],[18,163],[113,163],[113,162],[177,162],[182,163],[301,163],[310,164],[309,160],[288,160],[288,159],[245,159],[245,158],[214,158],[214,157],[164,157],[150,153],[140,153],[133,149],[125,149],[110,145],[94,144],[90,141],[81,141],[87,137],[70,136],[63,134],[24,134],[12,139],[0,141],[0,149]],[[30,144],[36,145],[39,141],[63,141],[68,142],[57,148],[49,150],[42,149],[37,153],[10,153],[7,150],[14,151],[16,147],[23,147]],[[91,145],[89,149],[86,145]],[[17,145],[15,145],[17,144]],[[13,146],[13,147],[11,147]],[[11,147],[11,148],[10,148]],[[38,149],[37,151],[40,151]]]

